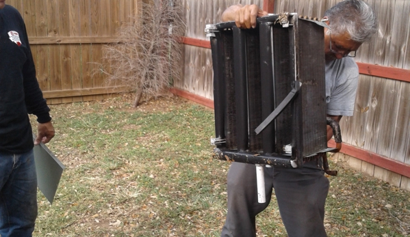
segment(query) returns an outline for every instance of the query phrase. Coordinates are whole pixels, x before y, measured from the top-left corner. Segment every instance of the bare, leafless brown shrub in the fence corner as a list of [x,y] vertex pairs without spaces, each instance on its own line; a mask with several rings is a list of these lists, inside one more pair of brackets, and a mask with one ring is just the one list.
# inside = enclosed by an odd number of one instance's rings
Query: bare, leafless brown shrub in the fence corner
[[175,0],[142,2],[140,9],[135,25],[119,30],[120,42],[104,48],[111,73],[103,72],[109,81],[122,81],[133,88],[133,107],[142,94],[156,98],[180,75],[180,40],[185,33],[182,6]]

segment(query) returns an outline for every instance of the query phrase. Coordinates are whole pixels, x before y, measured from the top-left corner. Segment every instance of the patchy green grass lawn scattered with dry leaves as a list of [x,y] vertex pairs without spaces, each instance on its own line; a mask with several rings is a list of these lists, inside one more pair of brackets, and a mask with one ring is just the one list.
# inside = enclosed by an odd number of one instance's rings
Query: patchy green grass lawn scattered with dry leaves
[[[48,146],[66,170],[53,205],[38,194],[34,236],[219,236],[229,163],[212,158],[213,111],[177,97],[132,101],[50,106]],[[330,162],[329,236],[410,235],[409,192]],[[286,236],[274,199],[257,229]]]

